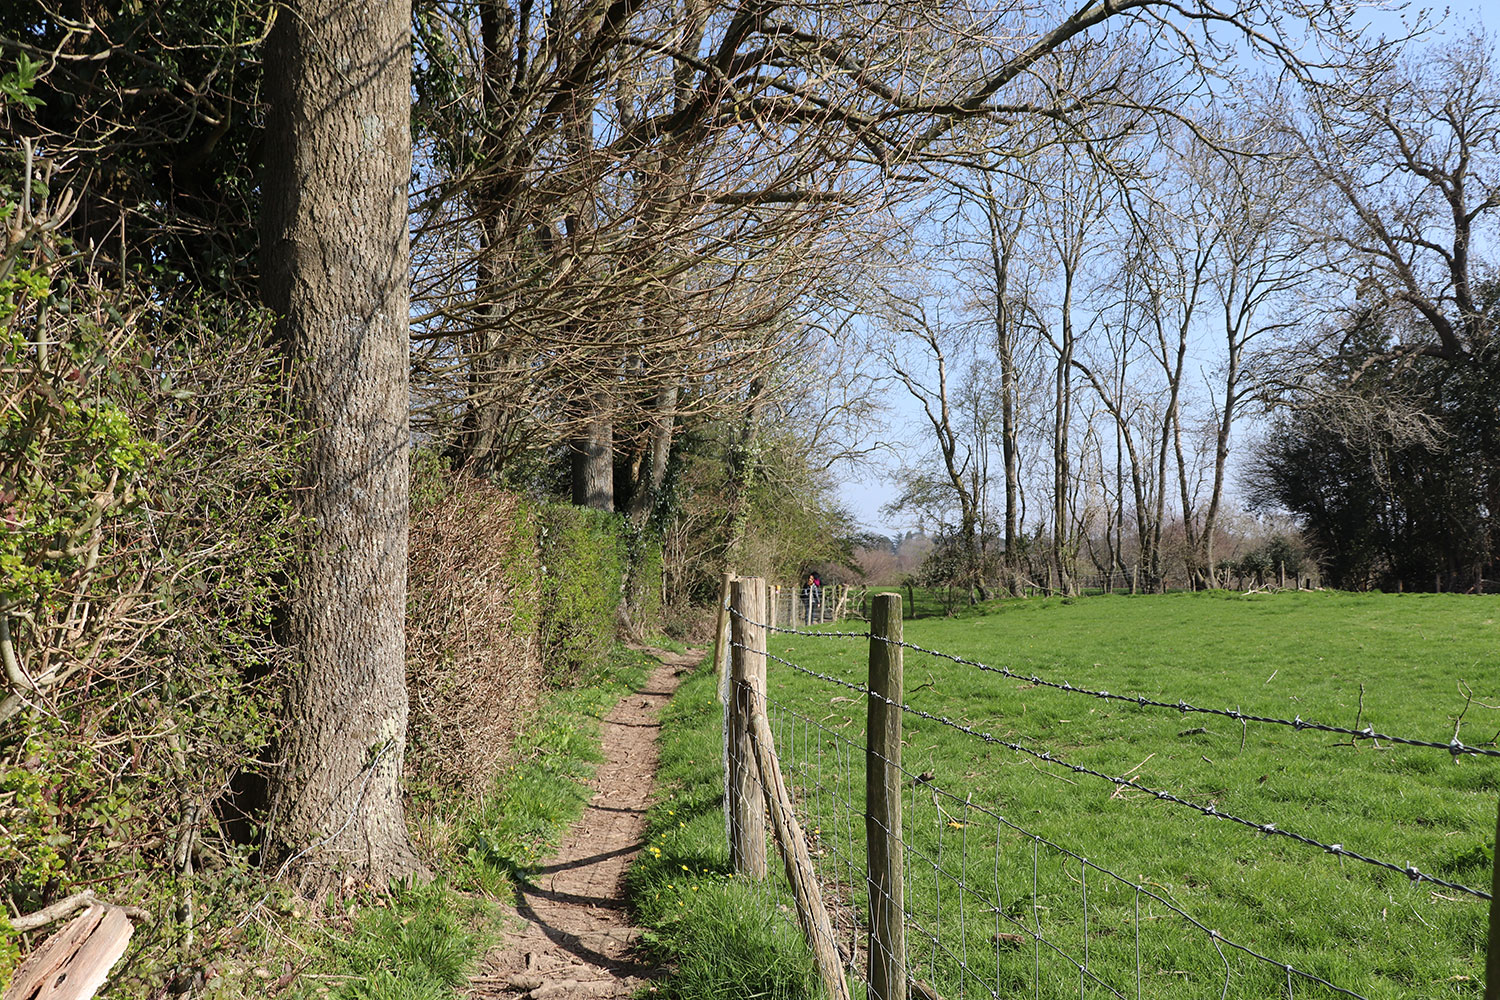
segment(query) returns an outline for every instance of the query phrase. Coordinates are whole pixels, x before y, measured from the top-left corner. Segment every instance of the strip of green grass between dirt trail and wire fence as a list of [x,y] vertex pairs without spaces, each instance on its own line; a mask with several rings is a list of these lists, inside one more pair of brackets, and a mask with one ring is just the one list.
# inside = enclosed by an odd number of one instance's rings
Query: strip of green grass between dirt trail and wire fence
[[646,849],[627,874],[630,907],[648,957],[674,967],[660,996],[814,997],[816,973],[788,910],[790,897],[774,882],[756,886],[730,874],[716,684],[705,660],[663,717],[663,795],[646,814]]

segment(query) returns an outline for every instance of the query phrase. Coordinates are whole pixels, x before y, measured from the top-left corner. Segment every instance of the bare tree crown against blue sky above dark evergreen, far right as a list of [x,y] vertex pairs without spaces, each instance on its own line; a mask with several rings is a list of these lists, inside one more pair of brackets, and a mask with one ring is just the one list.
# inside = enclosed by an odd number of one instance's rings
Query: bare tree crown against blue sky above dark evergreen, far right
[[[1382,52],[1382,55],[1384,55]],[[1473,358],[1494,316],[1476,297],[1476,249],[1500,210],[1500,82],[1491,39],[1370,58],[1276,117],[1320,189],[1304,235],[1366,306],[1410,312],[1419,339],[1394,348]]]

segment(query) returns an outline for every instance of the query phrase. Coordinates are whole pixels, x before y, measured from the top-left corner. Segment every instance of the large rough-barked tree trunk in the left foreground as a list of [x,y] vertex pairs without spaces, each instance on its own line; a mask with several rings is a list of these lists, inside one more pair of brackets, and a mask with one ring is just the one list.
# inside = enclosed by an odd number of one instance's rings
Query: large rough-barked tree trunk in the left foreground
[[309,433],[272,850],[304,886],[420,865],[406,748],[410,0],[300,0],[267,45],[264,295]]

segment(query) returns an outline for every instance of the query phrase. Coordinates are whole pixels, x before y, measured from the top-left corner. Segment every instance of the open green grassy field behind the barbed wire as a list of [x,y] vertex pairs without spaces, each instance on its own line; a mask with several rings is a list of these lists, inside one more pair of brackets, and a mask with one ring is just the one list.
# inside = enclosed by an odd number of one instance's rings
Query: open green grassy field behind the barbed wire
[[[909,621],[906,637],[1077,687],[1338,726],[1358,718],[1438,742],[1454,736],[1467,684],[1474,700],[1460,736],[1476,745],[1500,730],[1500,711],[1490,708],[1500,705],[1497,618],[1500,598],[1488,597],[1172,594],[1006,601],[982,615]],[[771,637],[772,654],[850,682],[866,678],[866,646]],[[862,705],[774,661],[770,691],[825,874],[838,877],[837,859],[862,864]],[[915,652],[906,655],[906,702],[1107,775],[1490,889],[1500,795],[1492,757],[1242,730],[1233,720],[1102,702]],[[1144,997],[1284,997],[1280,964],[1371,999],[1480,994],[1482,900],[933,721],[908,715],[904,738],[906,768],[933,774],[910,783],[906,799],[909,909],[920,925],[909,951],[915,975],[944,997],[1134,997],[1137,979]],[[861,879],[842,877],[846,903],[862,909]],[[1278,964],[1221,948],[1134,886]],[[1048,945],[1035,948],[1030,930]],[[1340,994],[1293,975],[1290,996]]]

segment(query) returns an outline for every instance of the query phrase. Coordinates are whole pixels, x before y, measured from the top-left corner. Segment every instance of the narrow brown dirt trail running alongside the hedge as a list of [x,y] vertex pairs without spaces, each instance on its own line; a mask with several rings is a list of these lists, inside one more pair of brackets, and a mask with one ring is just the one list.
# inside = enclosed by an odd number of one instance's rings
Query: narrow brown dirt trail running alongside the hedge
[[556,853],[520,886],[516,916],[525,925],[484,957],[470,981],[470,1000],[628,997],[660,975],[633,957],[640,931],[626,913],[624,877],[645,835],[662,708],[704,652],[648,652],[662,664],[604,718],[604,762],[591,781],[592,801]]

